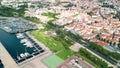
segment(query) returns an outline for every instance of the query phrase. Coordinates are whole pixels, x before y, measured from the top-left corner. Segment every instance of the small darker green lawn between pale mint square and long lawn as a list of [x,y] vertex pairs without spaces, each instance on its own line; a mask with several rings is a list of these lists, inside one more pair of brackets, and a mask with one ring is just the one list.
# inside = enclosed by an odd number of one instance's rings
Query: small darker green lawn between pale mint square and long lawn
[[62,58],[63,60],[66,60],[68,57],[72,56],[73,54],[74,54],[73,51],[69,49],[65,49],[65,50],[60,51],[56,55]]

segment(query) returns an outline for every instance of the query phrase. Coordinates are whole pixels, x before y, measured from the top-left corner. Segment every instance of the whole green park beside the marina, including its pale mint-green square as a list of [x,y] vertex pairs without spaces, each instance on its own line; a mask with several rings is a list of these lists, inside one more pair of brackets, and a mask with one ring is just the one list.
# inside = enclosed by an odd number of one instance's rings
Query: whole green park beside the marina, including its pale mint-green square
[[[54,55],[45,58],[43,62],[48,65],[49,68],[56,68],[66,59],[73,56],[74,52],[69,49],[69,45],[71,44],[68,44],[64,40],[56,40],[55,38],[45,34],[45,31],[46,30],[36,30],[30,32],[30,34],[34,36],[38,41],[42,42],[54,53]],[[62,41],[64,41],[66,45],[64,45]]]

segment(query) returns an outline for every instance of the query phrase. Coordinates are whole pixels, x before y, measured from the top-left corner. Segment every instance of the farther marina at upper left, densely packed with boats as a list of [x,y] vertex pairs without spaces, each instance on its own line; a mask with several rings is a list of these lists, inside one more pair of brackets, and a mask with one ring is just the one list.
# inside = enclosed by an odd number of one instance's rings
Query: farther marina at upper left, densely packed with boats
[[35,30],[36,25],[23,18],[0,17],[0,29],[9,33],[25,32]]

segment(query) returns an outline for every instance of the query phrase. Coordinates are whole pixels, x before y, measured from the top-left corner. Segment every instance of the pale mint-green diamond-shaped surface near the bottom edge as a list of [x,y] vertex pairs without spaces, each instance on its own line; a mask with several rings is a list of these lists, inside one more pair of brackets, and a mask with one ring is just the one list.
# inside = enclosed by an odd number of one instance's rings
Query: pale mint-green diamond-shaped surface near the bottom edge
[[56,55],[52,55],[46,59],[43,60],[43,62],[45,64],[47,64],[49,66],[49,68],[56,68],[58,65],[60,65],[62,62],[64,62],[64,60],[62,60],[61,58],[59,58]]

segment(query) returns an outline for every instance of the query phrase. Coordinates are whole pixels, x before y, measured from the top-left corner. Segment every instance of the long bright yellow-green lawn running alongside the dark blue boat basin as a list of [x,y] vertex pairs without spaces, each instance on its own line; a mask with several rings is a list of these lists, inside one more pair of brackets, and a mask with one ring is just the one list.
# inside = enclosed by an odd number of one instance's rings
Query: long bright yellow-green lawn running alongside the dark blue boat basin
[[53,52],[57,52],[64,48],[59,41],[56,41],[52,37],[45,35],[40,30],[32,31],[30,32],[30,34],[34,36],[38,41],[45,44]]

